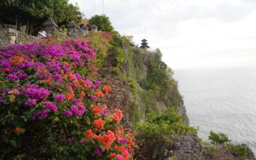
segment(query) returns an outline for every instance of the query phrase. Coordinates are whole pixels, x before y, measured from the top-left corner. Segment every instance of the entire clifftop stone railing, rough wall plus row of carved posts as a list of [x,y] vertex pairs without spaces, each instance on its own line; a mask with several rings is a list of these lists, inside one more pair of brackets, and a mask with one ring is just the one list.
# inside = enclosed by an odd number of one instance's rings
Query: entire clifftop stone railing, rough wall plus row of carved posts
[[[97,26],[94,24],[91,26],[91,31],[88,26],[83,26],[81,29],[82,31],[79,32],[79,28],[77,24],[74,22],[70,22],[68,24],[68,33],[67,35],[58,31],[58,25],[51,19],[48,18],[44,22],[45,32],[47,33],[47,37],[57,35],[59,37],[70,38],[70,37],[77,37],[77,36],[88,36],[90,33],[97,33]],[[10,44],[28,44],[35,41],[42,41],[40,38],[36,36],[28,35],[26,33],[21,33],[12,28],[0,28],[0,47],[4,45]]]

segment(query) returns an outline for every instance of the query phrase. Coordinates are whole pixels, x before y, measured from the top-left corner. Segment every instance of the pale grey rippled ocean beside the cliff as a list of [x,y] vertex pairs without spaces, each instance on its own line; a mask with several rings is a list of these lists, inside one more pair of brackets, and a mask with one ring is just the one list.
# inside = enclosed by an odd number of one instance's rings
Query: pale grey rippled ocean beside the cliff
[[256,154],[256,67],[174,70],[191,126],[223,132]]

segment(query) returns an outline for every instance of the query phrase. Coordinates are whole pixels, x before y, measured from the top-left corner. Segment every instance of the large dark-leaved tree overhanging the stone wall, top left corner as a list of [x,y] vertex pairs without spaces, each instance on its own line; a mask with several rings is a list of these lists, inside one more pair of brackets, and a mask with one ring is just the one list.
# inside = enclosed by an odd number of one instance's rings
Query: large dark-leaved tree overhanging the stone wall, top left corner
[[58,26],[70,21],[81,22],[82,13],[68,0],[0,0],[0,22],[15,24],[17,29],[26,25],[26,33],[35,34],[38,27],[52,17]]

